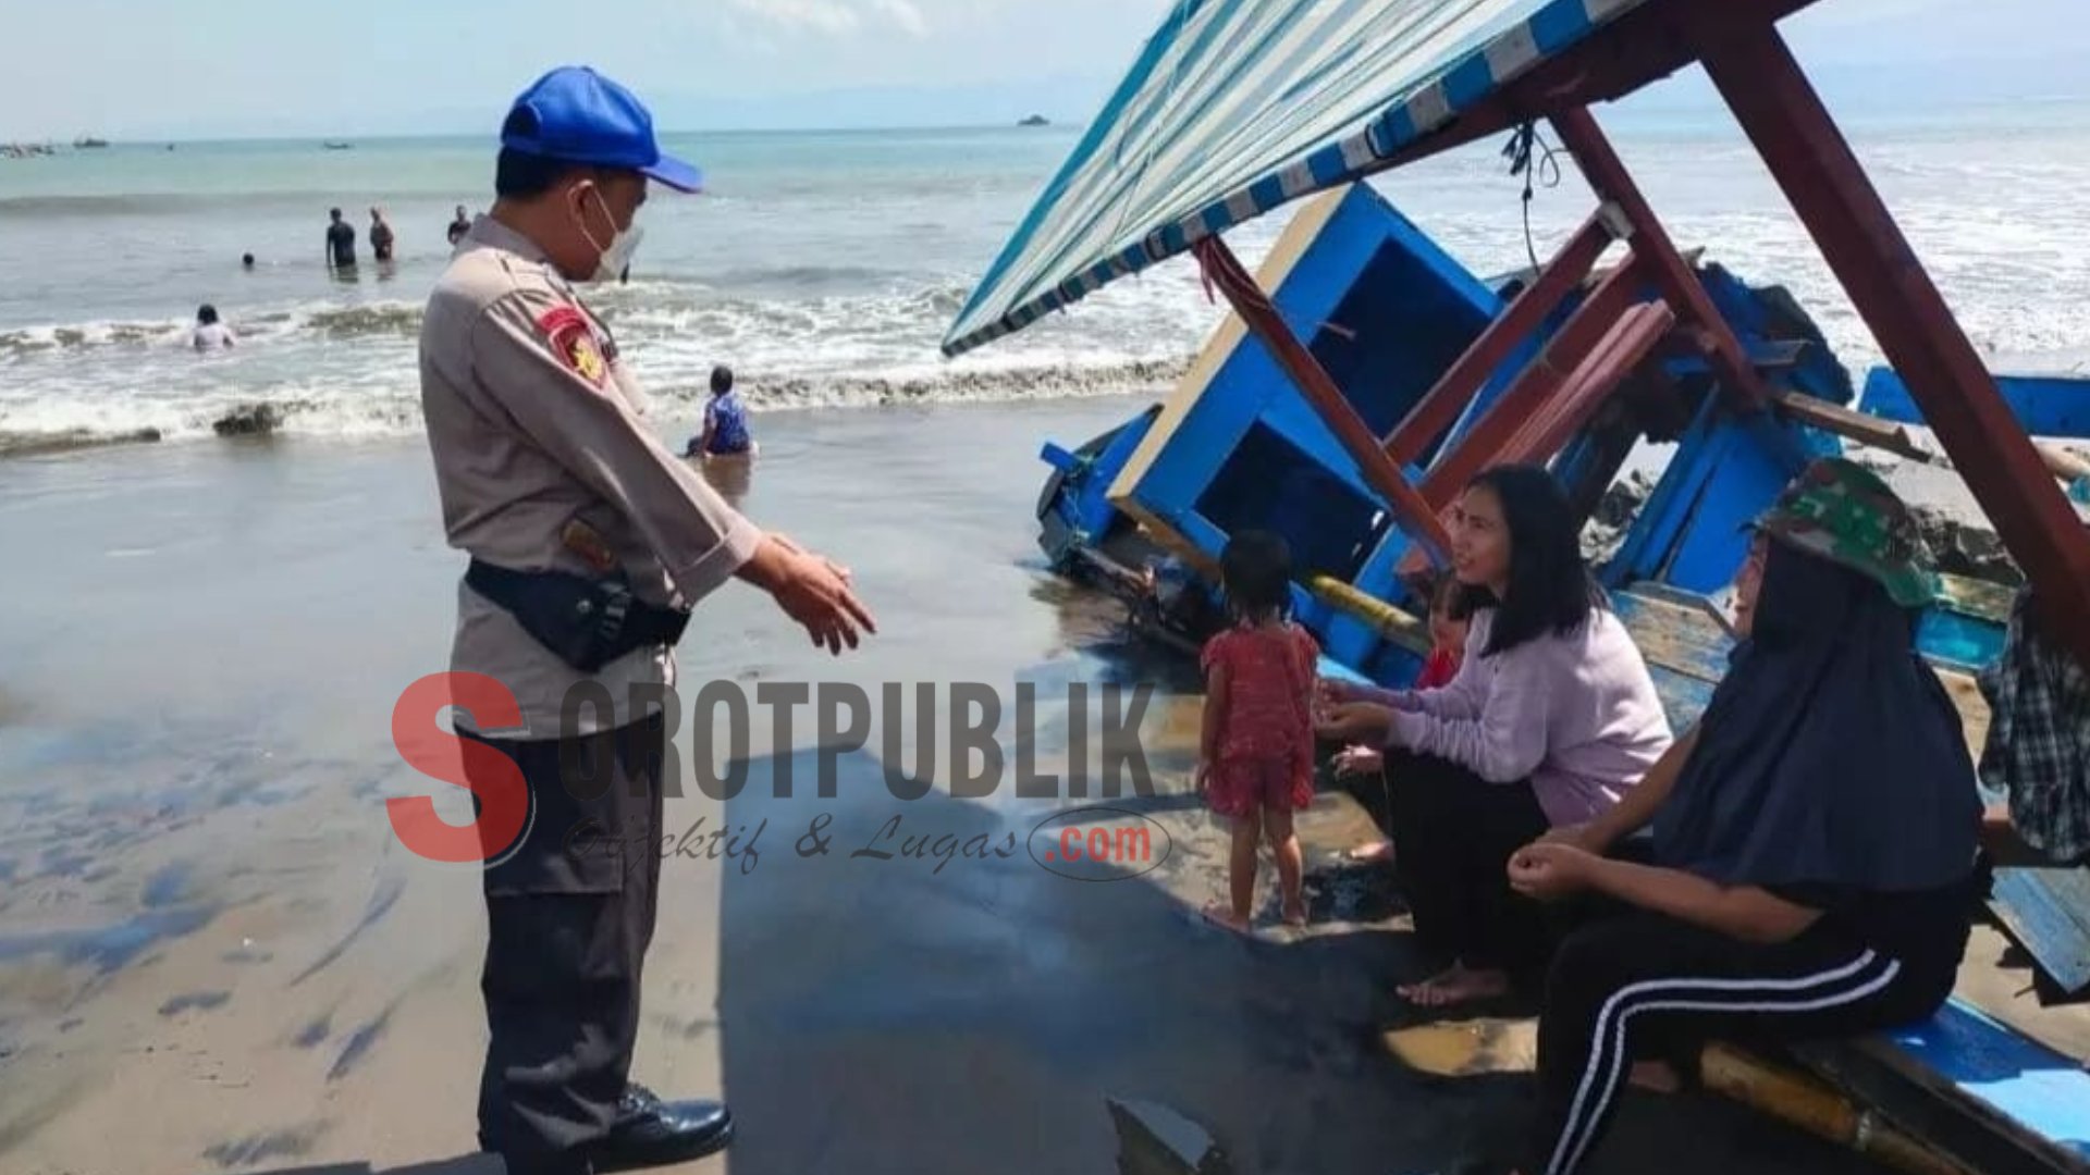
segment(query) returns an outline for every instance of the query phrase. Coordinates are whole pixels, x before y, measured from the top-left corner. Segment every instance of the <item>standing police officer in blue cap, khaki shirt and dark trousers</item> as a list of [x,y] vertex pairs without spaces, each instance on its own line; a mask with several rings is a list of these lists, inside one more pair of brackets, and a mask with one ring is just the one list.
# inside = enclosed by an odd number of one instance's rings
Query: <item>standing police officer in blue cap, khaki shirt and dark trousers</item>
[[623,86],[573,67],[541,77],[502,128],[497,201],[420,339],[443,525],[472,556],[451,671],[514,698],[460,705],[466,776],[481,801],[516,774],[529,792],[520,838],[481,824],[479,1137],[514,1175],[681,1162],[732,1133],[721,1104],[629,1085],[660,872],[660,705],[690,606],[738,577],[834,654],[876,631],[844,569],[757,529],[660,445],[568,284],[629,266],[648,180],[702,184]]

